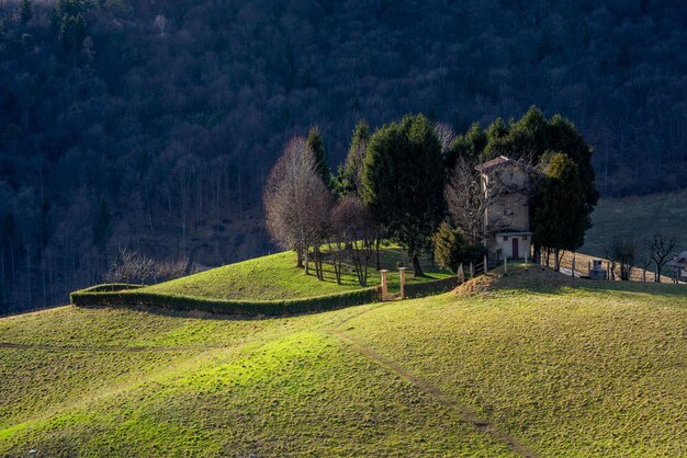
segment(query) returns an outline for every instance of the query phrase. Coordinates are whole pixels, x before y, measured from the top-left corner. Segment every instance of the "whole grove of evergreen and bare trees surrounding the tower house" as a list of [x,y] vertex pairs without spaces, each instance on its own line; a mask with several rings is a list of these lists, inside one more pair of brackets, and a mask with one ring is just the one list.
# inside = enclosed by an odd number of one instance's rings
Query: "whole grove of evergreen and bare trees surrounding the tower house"
[[[478,164],[505,154],[526,167],[531,180],[519,190],[493,180],[485,190]],[[423,275],[423,253],[453,272],[477,262],[489,236],[503,229],[494,219],[487,226],[487,209],[516,191],[529,199],[534,261],[549,264],[553,255],[559,270],[562,252],[583,245],[598,198],[589,146],[570,121],[548,119],[533,106],[517,121],[497,118],[486,129],[473,124],[463,135],[424,115],[406,115],[373,133],[361,121],[336,175],[325,157],[316,127],[307,138],[293,138],[263,193],[270,236],[296,252],[306,274],[312,259],[320,279],[323,247],[337,280],[348,257],[361,273],[360,285],[382,240],[405,248],[416,276]]]

